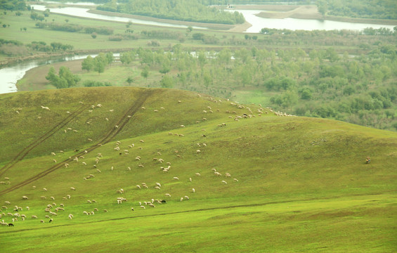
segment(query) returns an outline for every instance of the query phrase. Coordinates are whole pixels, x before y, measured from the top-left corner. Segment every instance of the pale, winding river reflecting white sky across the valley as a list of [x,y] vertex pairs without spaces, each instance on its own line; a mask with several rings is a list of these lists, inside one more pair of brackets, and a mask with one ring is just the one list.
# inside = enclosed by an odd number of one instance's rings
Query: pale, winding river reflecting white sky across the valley
[[[93,3],[82,3],[85,6],[93,6]],[[76,4],[78,5],[78,4]],[[35,10],[44,11],[46,7],[44,5],[32,5]],[[74,15],[84,18],[94,18],[100,20],[112,20],[120,22],[135,22],[137,24],[144,25],[157,25],[165,27],[187,27],[186,25],[174,25],[166,22],[154,22],[149,20],[138,20],[134,18],[122,18],[111,15],[100,15],[95,13],[89,13],[89,8],[79,7],[66,7],[66,8],[50,8],[52,13],[60,13],[65,15]],[[351,22],[337,22],[330,20],[300,20],[295,18],[275,19],[275,18],[260,18],[256,16],[256,13],[260,11],[252,10],[239,10],[245,17],[245,20],[252,24],[245,32],[257,33],[263,27],[275,28],[275,29],[289,29],[289,30],[363,30],[366,27],[373,27],[378,29],[379,27],[386,27],[393,30],[393,25],[374,25],[374,24],[361,24]],[[206,29],[205,27],[193,27],[197,29]],[[17,91],[16,83],[21,79],[27,70],[37,67],[39,65],[45,65],[53,62],[66,61],[66,60],[78,60],[86,58],[86,56],[72,56],[58,58],[57,60],[32,60],[29,62],[18,63],[11,67],[4,67],[0,69],[0,93],[9,93]]]

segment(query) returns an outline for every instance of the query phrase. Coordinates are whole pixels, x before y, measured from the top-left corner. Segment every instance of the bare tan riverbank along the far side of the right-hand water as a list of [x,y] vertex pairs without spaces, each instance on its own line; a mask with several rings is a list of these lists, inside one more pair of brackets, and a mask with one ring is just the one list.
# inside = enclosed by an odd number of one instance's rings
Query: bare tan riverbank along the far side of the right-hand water
[[[317,6],[236,6],[236,10],[261,10],[256,14],[260,18],[297,18],[313,20],[332,20],[339,22],[353,22],[375,25],[397,25],[397,20],[378,20],[371,18],[347,18],[330,15],[322,15],[318,12]],[[266,12],[263,12],[266,11]]]

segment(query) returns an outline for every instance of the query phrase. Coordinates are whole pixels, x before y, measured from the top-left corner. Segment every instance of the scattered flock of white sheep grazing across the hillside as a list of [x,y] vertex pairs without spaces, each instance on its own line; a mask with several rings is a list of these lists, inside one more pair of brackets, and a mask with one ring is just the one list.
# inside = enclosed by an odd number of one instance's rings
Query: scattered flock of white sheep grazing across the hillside
[[[200,97],[200,95],[197,95]],[[212,101],[213,103],[222,103],[221,100],[215,100],[213,98],[209,98],[210,101]],[[178,103],[182,103],[181,100],[178,100]],[[254,115],[254,112],[252,112],[252,110],[250,108],[245,107],[244,105],[239,105],[238,103],[230,103],[230,106],[232,108],[237,108],[237,109],[243,109],[245,110],[246,113],[242,113],[242,114],[237,114],[236,110],[226,110],[226,114],[228,114],[228,117],[231,119],[234,119],[235,121],[238,121],[240,119],[245,119],[245,118],[251,118],[251,117],[256,117]],[[93,105],[91,107],[92,111],[95,108],[101,108],[103,107],[103,105],[98,104],[98,105]],[[41,105],[41,108],[43,108],[44,110],[50,110],[48,107],[44,107],[43,105]],[[146,110],[145,107],[142,107],[141,110]],[[164,107],[161,107],[160,110],[165,110]],[[160,110],[153,110],[154,112],[160,112]],[[220,112],[220,110],[215,110],[216,112]],[[263,109],[261,107],[261,105],[259,105],[259,109],[256,110],[256,114],[258,116],[261,116],[263,113],[268,114],[270,112],[273,112],[273,110],[271,108],[267,108],[267,109]],[[112,110],[110,110],[110,112],[112,112]],[[70,113],[70,112],[67,112]],[[207,106],[207,108],[204,108],[204,110],[202,110],[202,115],[206,115],[208,113],[214,113],[214,110],[211,108],[211,106]],[[278,116],[289,116],[285,113],[282,112],[274,112],[275,115]],[[131,117],[131,116],[129,116]],[[200,116],[201,117],[201,116]],[[108,121],[108,118],[106,118],[106,120]],[[202,117],[200,120],[197,120],[197,122],[202,122],[207,120],[206,117]],[[90,124],[90,122],[86,122],[87,124]],[[218,125],[219,127],[225,127],[226,123],[221,123]],[[115,128],[117,128],[118,126],[115,126]],[[180,128],[184,128],[185,125],[181,124]],[[71,128],[67,128],[65,129],[65,133],[67,133],[68,130],[72,130]],[[205,131],[205,129],[202,129],[203,131]],[[73,130],[75,132],[77,132],[77,130]],[[169,135],[172,136],[178,136],[178,137],[183,137],[183,134],[172,134],[172,133],[168,133]],[[205,136],[205,134],[202,134],[202,136]],[[121,141],[116,141],[115,142],[115,146],[112,147],[111,149],[108,150],[108,152],[110,154],[115,154],[115,152],[119,153],[119,157],[131,157],[131,153],[137,153],[135,150],[142,150],[143,146],[145,145],[145,141],[140,140],[140,146],[135,148],[135,144],[122,144]],[[195,147],[197,148],[195,150],[195,155],[202,155],[202,150],[207,148],[207,143],[192,143],[193,145],[195,145]],[[176,157],[180,158],[181,155],[178,153],[178,150],[173,150],[173,152],[175,153]],[[59,153],[64,153],[63,151],[60,151]],[[87,153],[87,152],[85,152]],[[50,153],[51,157],[56,157],[57,154],[55,152],[51,152]],[[89,154],[87,154],[89,155]],[[108,155],[108,154],[106,154]],[[131,203],[129,205],[129,209],[131,209],[132,212],[135,211],[134,207],[138,208],[138,209],[146,209],[148,208],[155,208],[157,205],[164,205],[167,204],[167,202],[169,201],[178,201],[178,202],[182,202],[182,201],[186,201],[186,200],[191,200],[192,198],[194,198],[194,195],[197,194],[197,192],[200,191],[200,184],[198,184],[196,186],[195,181],[200,181],[200,178],[202,177],[202,172],[203,171],[196,171],[194,173],[192,173],[191,176],[189,176],[188,178],[182,178],[181,176],[179,176],[178,174],[176,174],[172,168],[172,163],[170,161],[166,162],[164,161],[164,159],[162,157],[160,157],[162,155],[162,153],[157,152],[157,157],[141,157],[139,155],[135,156],[135,161],[137,162],[137,167],[138,168],[144,168],[145,164],[142,162],[143,160],[151,160],[151,164],[150,167],[157,167],[160,168],[159,173],[167,173],[169,174],[169,181],[168,182],[155,182],[155,183],[151,183],[151,184],[147,184],[145,182],[136,184],[136,186],[134,186],[134,190],[145,190],[148,188],[152,188],[155,189],[155,191],[148,191],[149,194],[153,195],[150,197],[145,197],[145,199],[143,200],[136,200],[136,197],[133,197],[134,192],[133,192],[133,188],[129,187],[129,196],[130,197],[126,197],[126,190],[124,190],[123,188],[119,188],[119,187],[115,187],[114,193],[115,193],[115,197],[113,200],[109,200],[107,203],[101,203],[102,206],[109,206],[112,207],[112,205],[127,205],[127,203]],[[93,157],[92,157],[93,158]],[[90,180],[90,179],[94,179],[98,176],[101,176],[101,172],[106,169],[106,167],[101,166],[101,160],[103,159],[103,153],[97,153],[95,156],[95,160],[87,160],[83,155],[79,155],[78,157],[70,157],[70,159],[72,159],[72,162],[69,163],[65,163],[64,166],[66,168],[73,169],[73,167],[75,169],[79,169],[79,167],[84,166],[84,167],[91,167],[91,169],[94,169],[95,172],[91,172],[90,174],[88,174],[87,176],[84,176],[84,180]],[[56,162],[56,160],[54,159],[53,162]],[[100,169],[98,169],[98,167],[101,167],[102,171]],[[115,171],[115,167],[114,166],[109,166],[108,168],[108,174],[111,174],[112,171]],[[119,169],[119,168],[117,168]],[[131,167],[127,167],[126,166],[126,170],[131,171]],[[237,183],[239,182],[237,178],[233,178],[232,175],[229,172],[225,172],[225,173],[221,173],[221,171],[218,171],[218,169],[215,168],[210,168],[207,169],[207,171],[205,174],[211,174],[212,176],[210,177],[209,180],[214,180],[214,181],[219,181],[220,184],[226,185],[230,182],[232,183]],[[96,174],[96,176],[94,175]],[[9,178],[6,177],[4,178],[6,181],[0,181],[0,184],[9,184]],[[229,180],[230,179],[230,180]],[[208,180],[208,179],[206,179]],[[162,190],[162,187],[164,185],[167,185],[167,183],[171,183],[171,181],[183,181],[183,186],[187,186],[186,187],[186,192],[184,194],[178,195],[178,196],[174,196],[175,194],[167,191],[164,192]],[[102,212],[102,213],[107,213],[108,209],[103,209],[103,210],[99,210],[96,207],[93,207],[93,204],[96,204],[96,200],[93,200],[92,198],[90,198],[89,200],[86,200],[86,209],[81,210],[81,212],[78,213],[68,213],[65,212],[65,210],[67,210],[67,205],[65,205],[64,203],[59,203],[58,205],[56,204],[56,197],[50,196],[48,197],[48,199],[50,200],[50,202],[47,202],[47,197],[45,195],[41,195],[42,193],[48,193],[48,190],[46,188],[42,188],[41,190],[38,190],[36,186],[32,186],[32,190],[35,191],[39,191],[40,193],[34,193],[34,194],[30,194],[30,195],[34,195],[34,196],[40,196],[40,199],[45,203],[44,206],[42,208],[35,208],[34,210],[30,210],[30,207],[25,207],[25,209],[23,209],[22,207],[20,207],[19,203],[18,205],[12,205],[11,202],[9,201],[5,201],[4,202],[4,206],[1,207],[0,210],[0,219],[2,219],[1,221],[1,225],[2,226],[14,226],[14,223],[16,222],[20,222],[20,221],[25,221],[25,219],[27,219],[27,215],[26,214],[22,214],[22,212],[24,210],[32,213],[32,211],[34,211],[34,214],[30,215],[31,219],[39,219],[38,217],[40,217],[40,222],[41,223],[45,223],[46,220],[48,220],[48,222],[52,222],[54,221],[54,219],[59,219],[60,216],[67,216],[67,219],[74,219],[74,216],[79,216],[79,215],[84,215],[84,216],[91,216],[94,215],[98,212]],[[65,195],[61,198],[63,202],[67,202],[68,200],[70,200],[70,198],[72,197],[69,193],[74,193],[77,195],[83,195],[84,193],[82,192],[82,190],[79,190],[79,188],[75,188],[74,186],[70,186],[70,190],[68,193],[65,193]],[[159,196],[161,193],[162,197],[157,197]],[[180,194],[180,193],[178,193]],[[173,198],[174,196],[174,198]],[[27,197],[26,195],[21,196],[21,201],[24,202],[29,202],[30,197]],[[8,209],[12,209],[13,212],[6,212],[6,210]],[[5,219],[8,221],[6,222]],[[11,223],[12,222],[12,223]]]

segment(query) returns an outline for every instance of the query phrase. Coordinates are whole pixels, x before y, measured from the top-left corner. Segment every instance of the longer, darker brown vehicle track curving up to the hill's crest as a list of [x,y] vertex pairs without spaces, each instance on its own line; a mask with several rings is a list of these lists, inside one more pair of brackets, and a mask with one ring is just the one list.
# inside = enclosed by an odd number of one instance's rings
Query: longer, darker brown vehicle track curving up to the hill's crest
[[[91,145],[91,147],[87,148],[86,150],[83,150],[83,151],[77,153],[76,155],[74,155],[70,158],[67,158],[66,160],[63,160],[62,162],[59,162],[58,164],[53,165],[51,168],[46,169],[45,171],[41,171],[39,174],[32,176],[30,179],[26,179],[25,181],[15,184],[15,186],[11,186],[10,188],[8,188],[6,190],[0,191],[0,196],[4,195],[6,193],[11,193],[13,190],[21,188],[22,186],[26,186],[28,183],[32,183],[38,179],[41,179],[42,177],[50,174],[51,172],[56,171],[57,169],[60,169],[61,167],[64,167],[65,163],[72,162],[75,157],[79,157],[80,155],[90,153],[91,151],[100,147],[100,145],[110,142],[112,140],[112,138],[117,136],[117,134],[119,134],[119,132],[122,131],[124,126],[129,122],[129,120],[134,119],[135,113],[139,110],[139,108],[141,108],[143,103],[145,103],[145,100],[148,99],[152,95],[152,93],[153,93],[152,90],[143,91],[143,94],[141,94],[141,96],[138,97],[138,100],[136,100],[131,105],[131,107],[124,113],[124,115],[116,123],[118,127],[117,128],[113,127],[112,129],[110,129],[108,131],[108,133],[106,133],[105,136],[103,136],[101,141],[99,141],[95,145]],[[129,117],[129,116],[131,116],[131,117]]]

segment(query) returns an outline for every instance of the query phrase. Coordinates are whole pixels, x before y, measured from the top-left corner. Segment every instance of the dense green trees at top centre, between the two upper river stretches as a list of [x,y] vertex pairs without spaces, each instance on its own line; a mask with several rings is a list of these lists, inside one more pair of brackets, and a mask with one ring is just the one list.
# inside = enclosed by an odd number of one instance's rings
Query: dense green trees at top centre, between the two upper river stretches
[[120,13],[192,22],[241,24],[245,21],[241,13],[219,11],[217,8],[204,6],[200,1],[190,0],[129,0],[122,1],[119,4],[116,1],[111,1],[97,8],[103,11],[117,11]]

